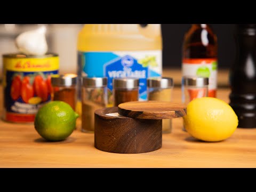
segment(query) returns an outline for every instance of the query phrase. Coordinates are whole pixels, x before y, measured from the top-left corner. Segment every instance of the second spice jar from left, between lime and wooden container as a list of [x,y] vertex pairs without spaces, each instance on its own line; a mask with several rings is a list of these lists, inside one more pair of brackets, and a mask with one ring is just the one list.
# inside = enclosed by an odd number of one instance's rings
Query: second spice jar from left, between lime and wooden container
[[82,132],[94,132],[94,111],[107,107],[107,77],[83,77]]

